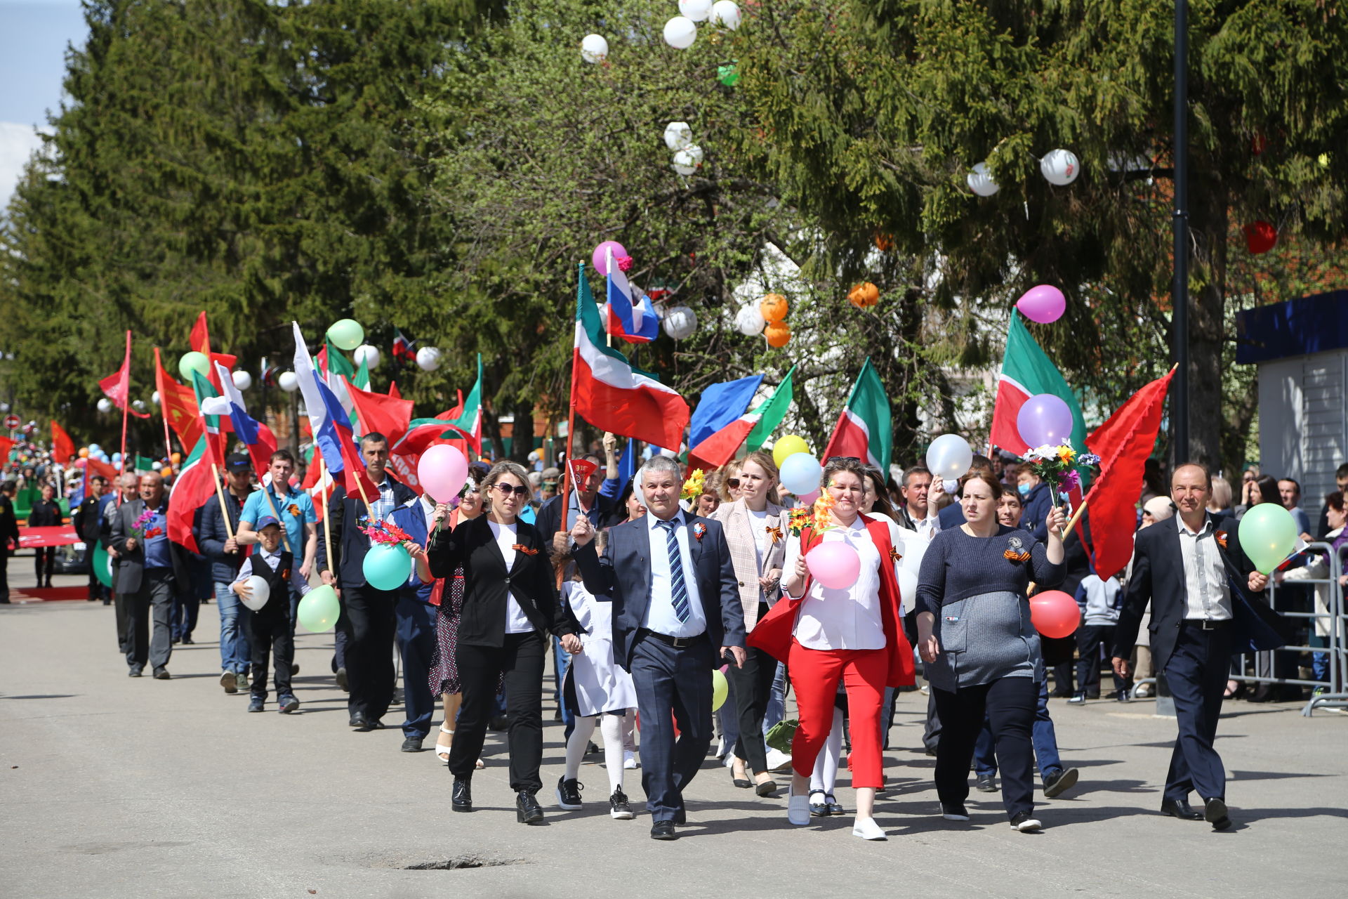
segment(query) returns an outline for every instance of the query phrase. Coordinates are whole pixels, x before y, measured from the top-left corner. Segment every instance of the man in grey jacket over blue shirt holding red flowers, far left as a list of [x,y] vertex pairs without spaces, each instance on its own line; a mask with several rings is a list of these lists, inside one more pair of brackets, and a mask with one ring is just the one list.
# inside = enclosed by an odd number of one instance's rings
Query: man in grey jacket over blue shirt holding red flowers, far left
[[[108,539],[117,551],[117,593],[127,611],[127,667],[139,678],[148,662],[155,679],[168,679],[173,654],[173,551],[168,497],[158,472],[140,476],[139,497],[117,507]],[[154,636],[150,620],[154,619]]]

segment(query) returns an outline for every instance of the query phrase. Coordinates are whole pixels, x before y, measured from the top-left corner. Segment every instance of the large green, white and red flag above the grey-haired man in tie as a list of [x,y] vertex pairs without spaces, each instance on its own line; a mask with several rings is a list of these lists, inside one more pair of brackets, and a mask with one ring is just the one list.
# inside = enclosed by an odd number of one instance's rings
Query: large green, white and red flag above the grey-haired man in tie
[[580,266],[576,290],[576,345],[572,356],[572,406],[586,422],[620,437],[677,447],[687,427],[687,403],[654,376],[640,372],[607,346],[604,325]]

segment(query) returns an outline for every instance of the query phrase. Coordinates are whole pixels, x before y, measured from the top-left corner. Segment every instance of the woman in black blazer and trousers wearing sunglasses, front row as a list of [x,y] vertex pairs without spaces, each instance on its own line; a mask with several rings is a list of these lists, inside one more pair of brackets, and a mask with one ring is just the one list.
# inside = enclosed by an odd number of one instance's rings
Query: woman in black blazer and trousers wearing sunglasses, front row
[[545,632],[562,635],[568,652],[581,642],[557,601],[547,546],[538,528],[518,515],[528,501],[528,473],[515,462],[497,462],[483,481],[491,503],[487,515],[446,532],[449,507],[435,507],[435,532],[427,558],[433,577],[464,569],[464,607],[458,621],[456,662],[464,704],[454,725],[449,772],[454,775],[452,807],[472,811],[473,766],[483,751],[499,678],[506,679],[510,714],[510,786],[516,793],[516,819],[543,819],[534,794],[543,782]]

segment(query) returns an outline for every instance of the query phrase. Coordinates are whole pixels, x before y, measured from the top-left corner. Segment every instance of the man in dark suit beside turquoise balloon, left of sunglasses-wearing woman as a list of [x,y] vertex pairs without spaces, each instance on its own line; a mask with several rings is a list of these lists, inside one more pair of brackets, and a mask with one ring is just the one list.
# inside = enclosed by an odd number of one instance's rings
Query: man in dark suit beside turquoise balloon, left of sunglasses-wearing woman
[[[360,454],[365,460],[365,473],[379,489],[377,496],[367,497],[371,518],[388,520],[395,508],[417,501],[417,493],[386,470],[387,437],[373,431],[365,434],[360,441]],[[346,491],[337,487],[328,503],[332,531],[328,539],[318,540],[318,574],[341,596],[338,627],[346,632],[345,667],[350,687],[346,710],[350,726],[361,732],[383,728],[380,718],[394,700],[394,631],[399,593],[376,590],[365,582],[363,566],[371,543],[360,532],[359,522],[367,514],[359,495],[346,496]],[[328,558],[329,545],[337,553],[336,559]]]

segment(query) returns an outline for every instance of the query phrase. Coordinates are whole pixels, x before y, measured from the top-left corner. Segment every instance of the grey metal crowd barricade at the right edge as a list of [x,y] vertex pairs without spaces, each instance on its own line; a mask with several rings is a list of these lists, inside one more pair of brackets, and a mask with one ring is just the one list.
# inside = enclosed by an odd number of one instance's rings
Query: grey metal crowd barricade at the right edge
[[[1345,546],[1344,550],[1348,551],[1348,546]],[[1246,674],[1248,656],[1251,654],[1242,652],[1235,656],[1239,659],[1240,673],[1232,674],[1231,679],[1243,681],[1246,683],[1309,686],[1312,687],[1312,695],[1301,712],[1304,716],[1309,717],[1316,708],[1348,708],[1348,617],[1345,617],[1344,609],[1344,589],[1339,582],[1339,578],[1344,573],[1341,555],[1336,553],[1329,543],[1324,542],[1310,543],[1306,547],[1306,551],[1316,553],[1321,558],[1328,559],[1328,574],[1325,577],[1298,578],[1295,581],[1285,582],[1282,586],[1286,588],[1291,584],[1308,585],[1316,590],[1317,596],[1320,594],[1318,586],[1324,586],[1325,611],[1317,611],[1314,600],[1312,600],[1312,609],[1309,612],[1297,612],[1286,608],[1286,601],[1282,604],[1283,608],[1279,608],[1279,590],[1274,578],[1268,580],[1268,604],[1285,619],[1304,619],[1312,632],[1314,632],[1316,621],[1326,621],[1326,629],[1329,631],[1326,638],[1328,646],[1289,644],[1278,650],[1256,652],[1254,654],[1256,656],[1255,674]],[[1286,590],[1283,593],[1286,594]],[[1278,670],[1278,654],[1293,654],[1299,659],[1302,652],[1324,652],[1328,655],[1328,681],[1274,677]],[[1264,658],[1258,659],[1258,656]],[[1258,674],[1258,663],[1263,662],[1267,662],[1267,677]]]

